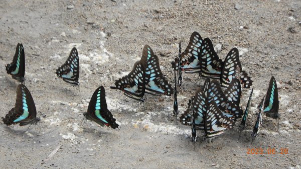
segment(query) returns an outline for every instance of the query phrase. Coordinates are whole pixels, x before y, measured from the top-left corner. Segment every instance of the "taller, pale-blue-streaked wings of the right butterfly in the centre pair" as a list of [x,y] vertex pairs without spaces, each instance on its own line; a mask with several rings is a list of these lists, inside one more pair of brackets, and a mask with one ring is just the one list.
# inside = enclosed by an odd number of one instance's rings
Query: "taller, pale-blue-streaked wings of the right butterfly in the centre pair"
[[145,63],[145,89],[150,93],[172,95],[173,87],[160,69],[159,58],[147,44],[143,47],[141,62]]

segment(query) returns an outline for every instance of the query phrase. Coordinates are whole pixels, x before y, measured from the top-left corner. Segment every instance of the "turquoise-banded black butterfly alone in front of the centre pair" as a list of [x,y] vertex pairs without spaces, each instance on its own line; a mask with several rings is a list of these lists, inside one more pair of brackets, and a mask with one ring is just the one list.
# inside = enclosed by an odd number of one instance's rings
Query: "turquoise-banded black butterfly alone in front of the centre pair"
[[98,87],[89,102],[88,111],[84,112],[84,116],[91,121],[95,121],[101,126],[110,126],[118,128],[116,119],[113,118],[112,113],[107,108],[105,100],[105,90],[103,86]]

